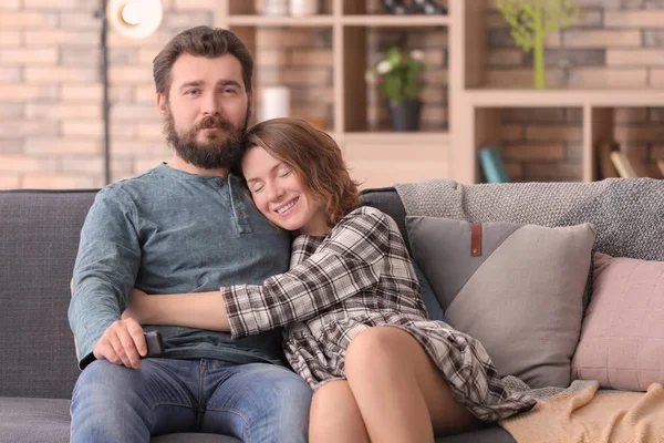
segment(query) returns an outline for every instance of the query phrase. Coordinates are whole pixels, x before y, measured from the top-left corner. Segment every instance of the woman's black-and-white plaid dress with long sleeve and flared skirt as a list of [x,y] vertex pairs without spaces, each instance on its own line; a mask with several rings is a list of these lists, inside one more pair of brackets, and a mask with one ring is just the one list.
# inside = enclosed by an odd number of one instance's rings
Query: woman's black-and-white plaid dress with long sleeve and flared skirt
[[427,319],[404,239],[378,209],[353,210],[326,236],[298,237],[288,272],[262,286],[225,287],[221,295],[234,338],[286,327],[286,357],[313,389],[345,379],[345,351],[354,337],[392,326],[422,344],[477,418],[497,421],[535,405],[502,385],[477,340]]

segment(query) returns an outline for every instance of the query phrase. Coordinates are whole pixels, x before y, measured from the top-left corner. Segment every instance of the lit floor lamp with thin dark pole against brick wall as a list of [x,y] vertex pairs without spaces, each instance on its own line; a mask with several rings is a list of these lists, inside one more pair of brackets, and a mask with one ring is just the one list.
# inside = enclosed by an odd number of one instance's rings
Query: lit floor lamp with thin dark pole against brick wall
[[164,8],[160,0],[100,0],[101,8],[95,17],[102,20],[100,39],[100,80],[104,96],[102,115],[104,120],[103,154],[104,184],[111,183],[111,100],[108,97],[108,24],[131,39],[152,35],[162,23]]

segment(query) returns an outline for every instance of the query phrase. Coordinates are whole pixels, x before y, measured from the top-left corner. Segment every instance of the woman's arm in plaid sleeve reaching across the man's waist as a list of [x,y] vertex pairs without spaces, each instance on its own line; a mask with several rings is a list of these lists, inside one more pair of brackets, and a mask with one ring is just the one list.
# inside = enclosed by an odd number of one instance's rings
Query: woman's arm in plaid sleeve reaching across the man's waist
[[263,285],[165,296],[134,290],[123,318],[141,324],[230,331],[234,338],[308,320],[377,284],[391,230],[387,220],[377,210],[346,217],[323,250]]

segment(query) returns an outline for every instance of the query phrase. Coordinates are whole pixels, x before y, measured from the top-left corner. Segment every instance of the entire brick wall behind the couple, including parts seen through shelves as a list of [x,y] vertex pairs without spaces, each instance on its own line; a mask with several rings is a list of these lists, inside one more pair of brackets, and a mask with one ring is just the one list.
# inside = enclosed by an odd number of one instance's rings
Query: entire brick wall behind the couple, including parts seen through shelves
[[[214,23],[215,0],[163,3],[165,19],[155,35],[141,41],[113,31],[108,35],[114,181],[170,156],[156,112],[151,62],[181,29]],[[378,2],[367,4],[373,11]],[[549,39],[550,85],[567,78],[570,87],[664,86],[664,2],[577,0],[577,4],[582,8],[581,22]],[[103,185],[97,6],[97,0],[0,2],[0,188]],[[529,86],[530,58],[515,48],[498,11],[490,10],[488,21],[490,85]],[[423,49],[429,64],[423,94],[425,130],[447,127],[447,37],[445,29],[407,33],[407,47]],[[366,39],[370,64],[398,41],[400,33],[372,29]],[[293,115],[322,116],[331,126],[331,29],[261,30],[257,84],[291,85]],[[561,65],[568,75],[562,75]],[[371,91],[369,99],[370,128],[386,128],[381,97]],[[616,137],[643,155],[662,156],[663,115],[661,109],[619,110]],[[580,110],[513,110],[505,112],[504,120],[506,156],[517,178],[580,178]],[[647,153],[646,142],[654,142]]]

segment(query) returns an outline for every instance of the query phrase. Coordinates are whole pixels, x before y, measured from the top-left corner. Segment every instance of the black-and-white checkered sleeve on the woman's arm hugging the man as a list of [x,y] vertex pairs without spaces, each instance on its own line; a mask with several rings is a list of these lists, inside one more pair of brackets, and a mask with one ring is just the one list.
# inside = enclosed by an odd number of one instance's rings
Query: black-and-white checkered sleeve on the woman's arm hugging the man
[[315,317],[374,286],[390,238],[387,216],[359,208],[344,217],[314,254],[263,285],[222,287],[232,338]]

